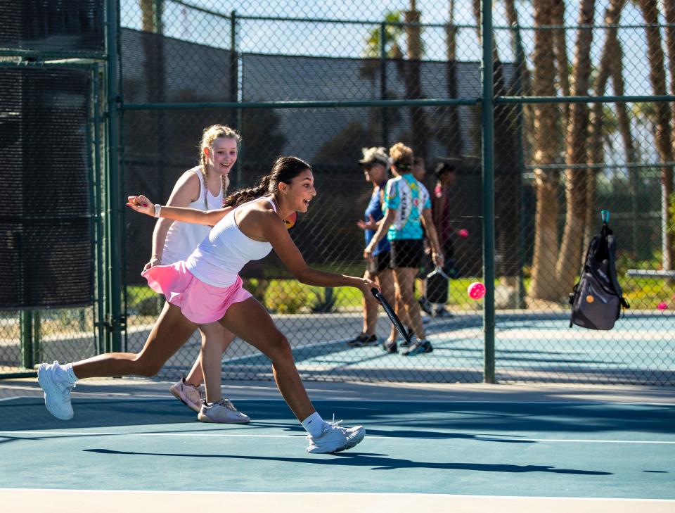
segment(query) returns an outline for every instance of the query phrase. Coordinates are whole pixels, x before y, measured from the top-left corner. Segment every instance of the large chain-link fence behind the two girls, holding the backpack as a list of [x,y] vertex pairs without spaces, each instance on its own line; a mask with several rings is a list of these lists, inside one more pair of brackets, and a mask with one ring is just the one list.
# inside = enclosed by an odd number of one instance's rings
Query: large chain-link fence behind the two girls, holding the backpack
[[[378,343],[350,345],[368,331],[361,293],[299,284],[270,255],[245,268],[246,286],[304,377],[672,384],[675,287],[626,275],[673,268],[672,3],[495,2],[490,44],[477,2],[120,0],[122,196],[167,201],[198,164],[203,129],[229,125],[243,139],[230,191],[257,182],[277,156],[309,161],[318,196],[292,237],[310,265],[362,275],[356,223],[373,186],[361,148],[403,142],[423,159],[418,179],[450,260],[444,305],[423,300],[423,279],[415,285],[433,352],[385,353],[384,315]],[[567,295],[601,209],[612,213],[631,309],[612,331],[569,329]],[[124,219],[124,345],[138,350],[162,307],[140,277],[154,222]],[[422,260],[423,277],[433,266]],[[494,302],[468,298],[467,286],[486,279]],[[198,351],[195,335],[162,376],[186,372]],[[239,340],[223,371],[271,379],[266,359]]]

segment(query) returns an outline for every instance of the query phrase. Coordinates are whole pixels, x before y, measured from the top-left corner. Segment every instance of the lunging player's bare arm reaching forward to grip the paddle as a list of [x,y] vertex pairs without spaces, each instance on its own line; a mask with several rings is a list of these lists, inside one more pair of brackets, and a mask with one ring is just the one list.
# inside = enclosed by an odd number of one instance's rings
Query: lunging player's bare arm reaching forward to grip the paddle
[[370,294],[373,287],[380,290],[378,284],[370,279],[319,271],[309,267],[295,242],[290,238],[283,221],[276,215],[271,218],[271,222],[263,224],[263,233],[283,264],[301,283],[323,287],[352,286],[361,289],[364,294]]

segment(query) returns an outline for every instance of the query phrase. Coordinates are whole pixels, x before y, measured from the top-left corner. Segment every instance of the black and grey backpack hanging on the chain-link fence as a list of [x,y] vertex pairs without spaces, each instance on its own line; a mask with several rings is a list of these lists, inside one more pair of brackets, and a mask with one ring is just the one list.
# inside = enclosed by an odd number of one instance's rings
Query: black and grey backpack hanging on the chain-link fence
[[630,308],[617,281],[617,240],[607,224],[610,213],[602,210],[601,214],[603,227],[589,244],[581,279],[570,294],[570,328],[577,324],[588,329],[612,329],[621,307]]

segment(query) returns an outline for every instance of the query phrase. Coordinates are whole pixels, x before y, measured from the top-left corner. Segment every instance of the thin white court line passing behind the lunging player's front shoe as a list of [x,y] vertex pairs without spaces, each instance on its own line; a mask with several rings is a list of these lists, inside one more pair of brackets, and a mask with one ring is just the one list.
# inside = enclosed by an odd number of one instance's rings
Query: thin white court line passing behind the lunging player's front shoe
[[[424,433],[425,431],[420,431]],[[412,431],[411,431],[412,433]],[[30,436],[182,436],[186,438],[304,438],[304,434],[298,435],[257,435],[257,434],[246,434],[246,433],[110,433],[110,432],[87,432],[87,431],[0,431],[0,436],[4,434],[8,435],[30,435]],[[541,443],[626,443],[633,445],[641,444],[655,444],[655,445],[675,445],[675,441],[655,441],[655,440],[592,440],[584,438],[502,438],[499,435],[482,435],[476,433],[463,433],[470,434],[476,437],[488,437],[490,441],[518,441],[518,442],[541,442]],[[424,437],[416,436],[373,436],[368,435],[366,438],[371,440],[380,438],[387,440],[414,440],[418,443],[420,440],[423,440]],[[437,438],[433,438],[437,440]],[[481,438],[476,438],[476,441],[485,441]]]

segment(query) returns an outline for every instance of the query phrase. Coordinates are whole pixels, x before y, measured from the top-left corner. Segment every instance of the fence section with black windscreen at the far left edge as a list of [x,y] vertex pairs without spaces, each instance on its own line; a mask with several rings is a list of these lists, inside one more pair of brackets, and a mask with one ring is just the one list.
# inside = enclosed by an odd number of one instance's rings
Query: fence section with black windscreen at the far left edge
[[102,350],[104,10],[0,6],[0,375]]

